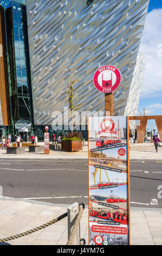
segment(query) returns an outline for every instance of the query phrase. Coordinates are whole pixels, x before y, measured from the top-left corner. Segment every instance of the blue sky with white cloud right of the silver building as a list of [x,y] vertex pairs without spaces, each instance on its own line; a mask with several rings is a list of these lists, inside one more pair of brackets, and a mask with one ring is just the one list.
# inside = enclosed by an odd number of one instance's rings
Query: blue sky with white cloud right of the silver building
[[162,1],[150,0],[140,51],[146,57],[146,69],[138,114],[162,115]]

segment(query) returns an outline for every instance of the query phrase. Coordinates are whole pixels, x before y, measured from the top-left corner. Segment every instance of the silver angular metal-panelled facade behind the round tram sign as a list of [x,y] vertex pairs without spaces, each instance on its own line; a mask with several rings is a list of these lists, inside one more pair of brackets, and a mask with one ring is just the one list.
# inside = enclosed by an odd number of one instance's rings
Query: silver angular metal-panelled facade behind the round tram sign
[[[95,70],[116,66],[123,83],[113,94],[113,114],[129,107],[132,78],[148,0],[27,0],[34,123],[55,124],[68,107],[68,85],[82,111],[103,111],[104,95],[93,85]],[[134,85],[136,86],[136,85]],[[137,104],[135,105],[136,107]]]

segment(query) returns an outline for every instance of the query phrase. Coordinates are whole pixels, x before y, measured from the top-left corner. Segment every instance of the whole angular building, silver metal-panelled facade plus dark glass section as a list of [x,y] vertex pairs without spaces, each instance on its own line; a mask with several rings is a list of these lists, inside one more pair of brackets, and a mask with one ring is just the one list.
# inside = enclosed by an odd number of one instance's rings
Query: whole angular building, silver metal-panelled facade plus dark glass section
[[[5,74],[8,72],[3,87],[10,98],[4,104],[0,95],[0,129],[14,134],[28,126],[30,133],[34,131],[41,138],[44,125],[52,132],[60,121],[64,124],[62,129],[68,130],[64,109],[69,108],[70,81],[76,81],[74,101],[81,106],[77,124],[82,129],[83,111],[104,111],[104,95],[94,87],[93,75],[98,67],[107,64],[116,66],[123,77],[113,94],[113,114],[127,114],[131,106],[134,114],[138,100],[131,95],[139,87],[132,79],[148,3],[149,0],[0,0],[5,22],[5,29],[2,26],[1,30],[6,34],[4,70]],[[5,111],[8,123],[4,123]],[[86,118],[84,124],[87,129]]]

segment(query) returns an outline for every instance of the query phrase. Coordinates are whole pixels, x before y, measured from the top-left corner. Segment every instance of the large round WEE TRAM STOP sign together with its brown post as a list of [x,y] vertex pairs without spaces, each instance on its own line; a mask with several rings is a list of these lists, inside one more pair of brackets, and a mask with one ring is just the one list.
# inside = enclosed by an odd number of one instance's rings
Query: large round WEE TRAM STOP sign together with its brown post
[[95,72],[94,86],[105,93],[105,116],[113,116],[113,92],[120,86],[121,81],[121,73],[115,66],[101,66]]

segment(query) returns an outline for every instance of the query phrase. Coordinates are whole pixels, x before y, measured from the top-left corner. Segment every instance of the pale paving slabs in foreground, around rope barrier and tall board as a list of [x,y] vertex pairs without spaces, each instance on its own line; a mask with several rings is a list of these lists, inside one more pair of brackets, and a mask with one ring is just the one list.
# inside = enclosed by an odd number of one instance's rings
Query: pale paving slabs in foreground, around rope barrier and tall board
[[[36,228],[67,212],[68,205],[0,198],[0,238]],[[88,245],[88,208],[81,220],[81,238]],[[162,209],[131,208],[131,245],[162,245]],[[66,245],[67,217],[11,245]]]

